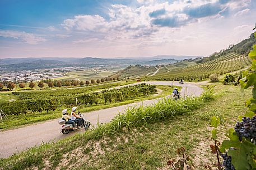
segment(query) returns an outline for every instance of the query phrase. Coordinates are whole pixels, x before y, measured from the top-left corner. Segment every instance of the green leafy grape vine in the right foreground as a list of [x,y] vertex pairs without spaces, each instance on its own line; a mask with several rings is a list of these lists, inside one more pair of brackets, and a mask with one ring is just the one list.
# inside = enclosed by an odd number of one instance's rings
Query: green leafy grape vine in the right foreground
[[[256,32],[254,32],[254,36],[256,38]],[[217,153],[218,169],[256,169],[256,45],[253,45],[249,57],[252,59],[251,71],[244,71],[243,79],[240,80],[242,90],[253,87],[253,98],[246,101],[249,111],[244,116],[239,116],[239,122],[234,128],[229,129],[229,134],[226,134],[229,139],[224,140],[220,147],[216,145],[216,135],[221,119],[213,116],[211,121],[211,125],[214,127],[212,139],[215,140],[215,147],[213,148],[211,145],[211,148],[212,153]],[[219,161],[218,153],[221,153],[221,157],[224,159],[222,164]]]

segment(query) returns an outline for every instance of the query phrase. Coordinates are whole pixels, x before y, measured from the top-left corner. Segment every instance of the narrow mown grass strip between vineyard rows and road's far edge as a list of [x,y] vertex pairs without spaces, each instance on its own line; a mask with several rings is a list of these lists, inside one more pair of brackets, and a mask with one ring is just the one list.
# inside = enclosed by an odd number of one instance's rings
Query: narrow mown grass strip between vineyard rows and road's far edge
[[[140,98],[134,98],[131,100],[122,101],[119,103],[111,103],[111,104],[102,104],[102,105],[92,105],[88,107],[79,108],[82,113],[88,112],[88,111],[94,111],[94,110],[100,110],[100,109],[106,109],[106,108],[112,108],[115,106],[125,105],[129,103],[135,103],[142,100],[150,100],[150,99],[156,99],[161,98],[163,96],[169,95],[171,91],[170,86],[156,86],[158,89],[161,90],[159,95],[150,95],[150,96],[142,96]],[[57,110],[49,111],[48,113],[46,111],[43,111],[42,113],[31,113],[26,115],[8,115],[8,120],[4,120],[4,122],[0,122],[0,129],[10,129],[10,128],[17,128],[21,125],[29,125],[32,123],[37,122],[43,122],[45,120],[52,120],[59,118],[61,116],[61,110],[65,108],[58,108]]]

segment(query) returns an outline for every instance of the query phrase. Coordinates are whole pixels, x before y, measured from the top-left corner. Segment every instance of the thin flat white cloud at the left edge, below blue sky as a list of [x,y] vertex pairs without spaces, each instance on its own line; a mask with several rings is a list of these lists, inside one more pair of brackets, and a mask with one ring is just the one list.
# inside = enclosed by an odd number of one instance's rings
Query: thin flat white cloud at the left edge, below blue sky
[[35,36],[32,33],[12,31],[12,30],[0,30],[0,36],[4,38],[14,38],[21,40],[22,42],[29,43],[31,45],[38,44],[39,42],[46,41],[45,38]]

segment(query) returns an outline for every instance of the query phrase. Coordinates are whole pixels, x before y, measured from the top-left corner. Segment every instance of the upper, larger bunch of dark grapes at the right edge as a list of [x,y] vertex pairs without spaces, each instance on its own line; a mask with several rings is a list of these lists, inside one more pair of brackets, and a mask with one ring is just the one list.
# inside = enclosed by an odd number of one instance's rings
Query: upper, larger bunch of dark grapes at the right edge
[[245,137],[254,143],[256,139],[256,117],[253,116],[252,119],[243,117],[242,120],[236,123],[235,132],[238,134],[240,141],[242,137]]

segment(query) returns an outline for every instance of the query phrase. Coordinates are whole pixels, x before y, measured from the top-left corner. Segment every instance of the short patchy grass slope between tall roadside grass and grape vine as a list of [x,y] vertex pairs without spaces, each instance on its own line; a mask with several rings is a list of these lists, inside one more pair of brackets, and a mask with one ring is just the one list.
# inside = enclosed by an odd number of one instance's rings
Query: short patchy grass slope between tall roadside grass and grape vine
[[223,133],[234,127],[238,115],[245,113],[244,101],[251,96],[246,90],[244,98],[237,86],[215,86],[215,100],[203,108],[94,141],[87,144],[89,151],[87,157],[83,156],[89,165],[76,162],[66,166],[75,166],[75,169],[169,169],[168,159],[177,159],[176,149],[185,147],[195,169],[205,169],[204,165],[217,162],[210,149],[213,143],[211,117],[224,116],[226,127],[222,126],[218,134],[225,138]]

